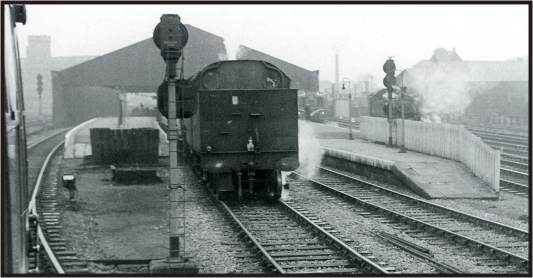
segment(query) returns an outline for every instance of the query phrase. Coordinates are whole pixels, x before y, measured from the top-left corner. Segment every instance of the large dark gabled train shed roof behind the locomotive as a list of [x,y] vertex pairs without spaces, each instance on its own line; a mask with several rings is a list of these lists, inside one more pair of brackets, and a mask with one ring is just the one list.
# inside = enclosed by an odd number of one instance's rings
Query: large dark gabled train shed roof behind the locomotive
[[[186,25],[189,40],[183,50],[183,76],[224,60],[224,39]],[[318,71],[309,71],[263,52],[242,47],[238,59],[260,59],[278,66],[292,79],[292,87],[318,91]],[[181,62],[178,64],[181,66]],[[53,122],[72,126],[93,117],[118,115],[121,93],[155,93],[165,76],[165,64],[152,38],[52,72]]]

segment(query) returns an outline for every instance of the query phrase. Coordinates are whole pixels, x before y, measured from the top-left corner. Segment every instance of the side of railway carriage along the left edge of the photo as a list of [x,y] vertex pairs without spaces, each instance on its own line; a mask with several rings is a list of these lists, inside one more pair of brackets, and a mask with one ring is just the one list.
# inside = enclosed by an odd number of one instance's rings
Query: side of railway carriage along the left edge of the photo
[[16,23],[26,22],[23,5],[4,10],[2,61],[2,260],[4,273],[28,272],[29,230],[26,130]]

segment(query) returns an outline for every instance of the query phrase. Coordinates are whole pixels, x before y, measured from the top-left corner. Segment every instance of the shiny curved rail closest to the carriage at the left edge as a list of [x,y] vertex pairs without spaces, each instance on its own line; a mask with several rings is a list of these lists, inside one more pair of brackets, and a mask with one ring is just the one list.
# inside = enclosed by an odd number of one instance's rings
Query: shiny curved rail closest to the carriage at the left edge
[[[47,137],[46,139],[50,139],[52,137],[55,137],[57,134],[54,134],[52,136],[49,136]],[[41,140],[39,141],[39,143],[42,143],[46,140]],[[27,209],[27,212],[30,214],[30,215],[39,215],[39,212],[37,211],[37,207],[36,207],[36,199],[37,199],[37,195],[39,194],[39,191],[40,191],[40,187],[41,187],[41,183],[42,183],[42,180],[43,180],[43,176],[44,176],[44,173],[46,172],[46,169],[48,168],[48,165],[50,163],[50,160],[52,159],[52,157],[55,155],[55,153],[57,152],[57,150],[64,144],[64,141],[62,140],[59,144],[57,144],[51,151],[50,153],[48,153],[48,155],[46,156],[46,159],[43,163],[43,165],[41,166],[41,169],[39,171],[39,175],[37,176],[37,181],[35,182],[35,186],[33,188],[33,192],[32,192],[32,195],[31,195],[31,199],[30,199],[30,202],[28,204],[28,209]],[[32,147],[35,147],[36,145],[34,144]],[[44,247],[44,250],[46,252],[46,255],[48,256],[48,258],[50,259],[50,262],[52,263],[52,266],[54,267],[54,269],[57,271],[57,273],[59,274],[65,274],[65,270],[63,269],[63,267],[61,266],[61,263],[59,262],[59,260],[57,259],[56,255],[54,254],[54,252],[52,251],[52,249],[50,248],[50,245],[48,244],[48,240],[46,239],[46,236],[44,235],[44,233],[42,232],[41,230],[41,226],[38,225],[37,226],[37,235],[39,237],[39,242],[43,245]]]

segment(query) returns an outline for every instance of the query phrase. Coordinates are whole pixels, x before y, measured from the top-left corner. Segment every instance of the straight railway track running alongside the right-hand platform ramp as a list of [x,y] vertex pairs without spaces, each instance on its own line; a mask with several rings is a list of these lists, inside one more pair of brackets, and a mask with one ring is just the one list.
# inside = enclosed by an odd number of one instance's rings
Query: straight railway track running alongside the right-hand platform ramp
[[[422,238],[468,252],[499,273],[527,272],[529,233],[508,225],[448,209],[328,168],[310,182],[350,200],[361,213],[414,229]],[[405,227],[408,226],[408,227]]]

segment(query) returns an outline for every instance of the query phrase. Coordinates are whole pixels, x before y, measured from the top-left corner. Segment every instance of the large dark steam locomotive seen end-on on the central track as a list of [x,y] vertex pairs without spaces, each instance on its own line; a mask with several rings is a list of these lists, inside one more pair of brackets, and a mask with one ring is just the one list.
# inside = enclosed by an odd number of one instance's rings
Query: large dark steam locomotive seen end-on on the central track
[[[276,66],[256,60],[208,65],[178,84],[187,160],[219,198],[281,197],[281,171],[298,162],[297,90]],[[166,103],[166,94],[158,102]],[[164,114],[164,112],[163,112]]]

